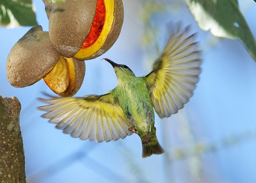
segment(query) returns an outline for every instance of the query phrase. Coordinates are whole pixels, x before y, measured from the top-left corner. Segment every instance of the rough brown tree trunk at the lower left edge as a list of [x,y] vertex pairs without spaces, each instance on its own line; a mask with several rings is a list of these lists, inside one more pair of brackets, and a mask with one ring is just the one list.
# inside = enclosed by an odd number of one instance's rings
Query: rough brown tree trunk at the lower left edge
[[26,182],[20,102],[0,96],[0,182]]

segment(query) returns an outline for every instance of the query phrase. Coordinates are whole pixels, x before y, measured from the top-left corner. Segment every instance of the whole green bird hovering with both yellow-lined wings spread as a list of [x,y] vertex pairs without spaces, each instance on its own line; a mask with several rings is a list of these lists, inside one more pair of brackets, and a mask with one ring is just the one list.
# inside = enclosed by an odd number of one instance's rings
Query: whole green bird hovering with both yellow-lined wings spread
[[[154,109],[160,118],[184,107],[193,95],[200,74],[200,51],[195,34],[177,28],[170,36],[150,74],[136,77],[126,65],[104,58],[114,68],[118,85],[105,95],[52,97],[39,99],[47,106],[44,118],[74,138],[90,141],[116,141],[138,134],[142,157],[164,152],[156,138]],[[153,109],[154,108],[154,109]]]

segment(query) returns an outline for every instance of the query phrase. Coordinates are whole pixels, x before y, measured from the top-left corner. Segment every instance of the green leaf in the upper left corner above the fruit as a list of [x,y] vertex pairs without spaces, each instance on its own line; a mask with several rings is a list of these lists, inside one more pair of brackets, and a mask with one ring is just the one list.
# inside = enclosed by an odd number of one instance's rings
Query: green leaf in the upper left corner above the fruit
[[31,0],[1,0],[0,26],[15,28],[37,25]]

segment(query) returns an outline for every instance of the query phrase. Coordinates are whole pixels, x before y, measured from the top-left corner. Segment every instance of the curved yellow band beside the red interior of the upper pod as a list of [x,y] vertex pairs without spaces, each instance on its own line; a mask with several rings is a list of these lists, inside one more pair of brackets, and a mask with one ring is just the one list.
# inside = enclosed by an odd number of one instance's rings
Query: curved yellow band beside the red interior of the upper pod
[[95,54],[95,52],[97,52],[106,42],[106,38],[111,31],[114,22],[115,0],[104,0],[104,3],[106,6],[106,19],[99,38],[97,38],[96,42],[90,47],[80,49],[75,54],[74,58],[84,60],[85,58]]

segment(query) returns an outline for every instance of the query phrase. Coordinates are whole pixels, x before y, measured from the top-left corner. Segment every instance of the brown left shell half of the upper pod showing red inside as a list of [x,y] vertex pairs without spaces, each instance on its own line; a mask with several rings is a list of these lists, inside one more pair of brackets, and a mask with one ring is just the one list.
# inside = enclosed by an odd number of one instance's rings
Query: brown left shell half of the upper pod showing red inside
[[61,55],[70,58],[79,51],[96,12],[95,0],[65,0],[48,8],[49,37]]

